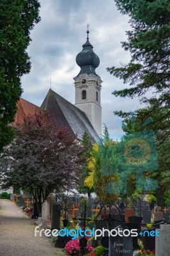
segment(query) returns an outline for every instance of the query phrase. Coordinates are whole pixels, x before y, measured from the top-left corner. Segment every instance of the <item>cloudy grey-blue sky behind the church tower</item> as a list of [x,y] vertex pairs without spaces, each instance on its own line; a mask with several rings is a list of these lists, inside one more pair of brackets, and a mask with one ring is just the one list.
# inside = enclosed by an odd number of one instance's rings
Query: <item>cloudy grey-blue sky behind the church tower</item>
[[102,83],[102,122],[110,134],[118,138],[122,132],[121,119],[113,111],[133,111],[139,108],[137,99],[121,99],[112,92],[125,88],[123,81],[107,72],[107,67],[128,63],[122,41],[129,29],[128,17],[122,15],[113,0],[41,0],[41,22],[31,31],[32,42],[27,51],[31,56],[31,72],[22,77],[22,97],[40,106],[50,88],[74,104],[73,77],[79,73],[75,62],[86,42],[89,23],[89,42],[100,58],[96,69]]

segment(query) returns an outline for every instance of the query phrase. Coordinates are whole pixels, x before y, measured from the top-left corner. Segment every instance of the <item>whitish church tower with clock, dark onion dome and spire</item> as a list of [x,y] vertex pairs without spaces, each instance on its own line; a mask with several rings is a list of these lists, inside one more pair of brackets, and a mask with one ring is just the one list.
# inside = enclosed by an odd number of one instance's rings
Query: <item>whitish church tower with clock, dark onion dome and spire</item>
[[74,77],[75,81],[75,106],[81,109],[88,116],[91,125],[98,135],[102,134],[102,107],[100,100],[102,80],[95,72],[100,64],[100,60],[93,52],[93,45],[88,37],[85,44],[82,45],[82,51],[77,54],[76,62],[81,71]]

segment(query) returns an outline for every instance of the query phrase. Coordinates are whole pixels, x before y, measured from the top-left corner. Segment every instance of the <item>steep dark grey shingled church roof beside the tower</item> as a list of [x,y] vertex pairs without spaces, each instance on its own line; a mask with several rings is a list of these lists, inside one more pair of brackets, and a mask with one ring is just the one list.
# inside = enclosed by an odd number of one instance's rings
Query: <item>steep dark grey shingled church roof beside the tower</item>
[[98,134],[86,114],[58,95],[58,93],[50,89],[43,100],[41,108],[53,116],[57,125],[66,125],[73,134],[77,135],[79,140],[82,140],[84,131],[88,131],[91,136],[91,142],[98,141]]

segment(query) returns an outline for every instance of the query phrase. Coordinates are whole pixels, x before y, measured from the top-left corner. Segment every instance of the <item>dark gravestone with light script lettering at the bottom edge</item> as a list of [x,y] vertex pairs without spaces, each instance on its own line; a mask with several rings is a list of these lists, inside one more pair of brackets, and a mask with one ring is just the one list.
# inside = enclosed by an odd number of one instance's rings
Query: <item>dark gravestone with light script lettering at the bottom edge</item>
[[133,256],[132,237],[109,237],[109,256]]

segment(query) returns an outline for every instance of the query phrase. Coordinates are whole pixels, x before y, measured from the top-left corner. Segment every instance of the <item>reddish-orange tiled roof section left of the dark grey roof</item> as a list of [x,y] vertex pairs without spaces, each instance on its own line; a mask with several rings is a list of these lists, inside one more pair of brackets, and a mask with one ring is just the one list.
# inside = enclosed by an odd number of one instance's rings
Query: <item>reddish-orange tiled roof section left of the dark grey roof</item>
[[43,109],[36,106],[35,104],[20,98],[17,102],[17,113],[15,114],[13,126],[17,124],[22,124],[24,122],[24,117],[27,115],[34,115],[35,113],[42,113]]

